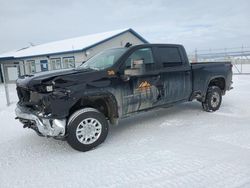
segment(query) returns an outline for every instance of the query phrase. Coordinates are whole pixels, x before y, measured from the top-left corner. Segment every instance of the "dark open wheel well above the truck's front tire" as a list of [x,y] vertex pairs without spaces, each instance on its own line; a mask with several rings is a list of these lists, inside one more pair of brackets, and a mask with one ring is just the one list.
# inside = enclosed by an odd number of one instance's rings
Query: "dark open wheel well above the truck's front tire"
[[109,120],[118,118],[118,110],[115,99],[111,96],[91,96],[79,99],[69,110],[69,116],[82,108],[95,108],[104,114]]

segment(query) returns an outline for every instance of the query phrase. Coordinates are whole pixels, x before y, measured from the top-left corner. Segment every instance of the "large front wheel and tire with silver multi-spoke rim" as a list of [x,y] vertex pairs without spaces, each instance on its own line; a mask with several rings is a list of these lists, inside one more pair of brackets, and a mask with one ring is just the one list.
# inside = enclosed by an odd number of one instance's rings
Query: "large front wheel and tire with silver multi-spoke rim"
[[108,121],[94,108],[84,108],[73,113],[68,121],[67,142],[78,151],[89,151],[106,139]]

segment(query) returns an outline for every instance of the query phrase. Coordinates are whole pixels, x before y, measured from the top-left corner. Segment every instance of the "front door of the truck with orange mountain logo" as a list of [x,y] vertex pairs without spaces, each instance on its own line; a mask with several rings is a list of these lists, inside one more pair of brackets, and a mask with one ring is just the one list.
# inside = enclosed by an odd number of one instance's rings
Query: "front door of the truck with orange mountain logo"
[[[138,64],[140,66],[138,67]],[[163,83],[160,69],[150,47],[139,48],[132,52],[124,62],[125,70],[139,70],[137,75],[127,75],[129,80],[126,94],[123,95],[123,112],[125,114],[145,110],[158,105],[163,98]],[[124,70],[124,72],[126,72]]]

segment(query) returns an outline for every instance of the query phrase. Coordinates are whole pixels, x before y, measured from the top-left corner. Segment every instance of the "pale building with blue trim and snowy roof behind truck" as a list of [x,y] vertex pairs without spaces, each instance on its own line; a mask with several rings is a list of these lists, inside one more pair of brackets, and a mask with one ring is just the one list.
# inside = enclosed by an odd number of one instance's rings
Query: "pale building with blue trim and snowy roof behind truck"
[[0,64],[6,82],[10,82],[20,75],[78,66],[104,49],[123,47],[128,42],[147,43],[133,29],[123,29],[14,50],[0,54]]

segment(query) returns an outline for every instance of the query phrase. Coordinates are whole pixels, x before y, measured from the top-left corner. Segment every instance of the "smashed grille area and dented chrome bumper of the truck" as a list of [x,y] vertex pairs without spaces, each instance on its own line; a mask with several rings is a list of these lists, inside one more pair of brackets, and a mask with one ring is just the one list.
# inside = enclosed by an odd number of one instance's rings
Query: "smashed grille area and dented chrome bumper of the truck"
[[[65,137],[66,118],[51,116],[52,92],[40,93],[17,84],[17,94],[19,102],[15,110],[16,119],[24,128],[33,129],[39,136],[57,139]],[[60,100],[60,97],[57,98]]]

